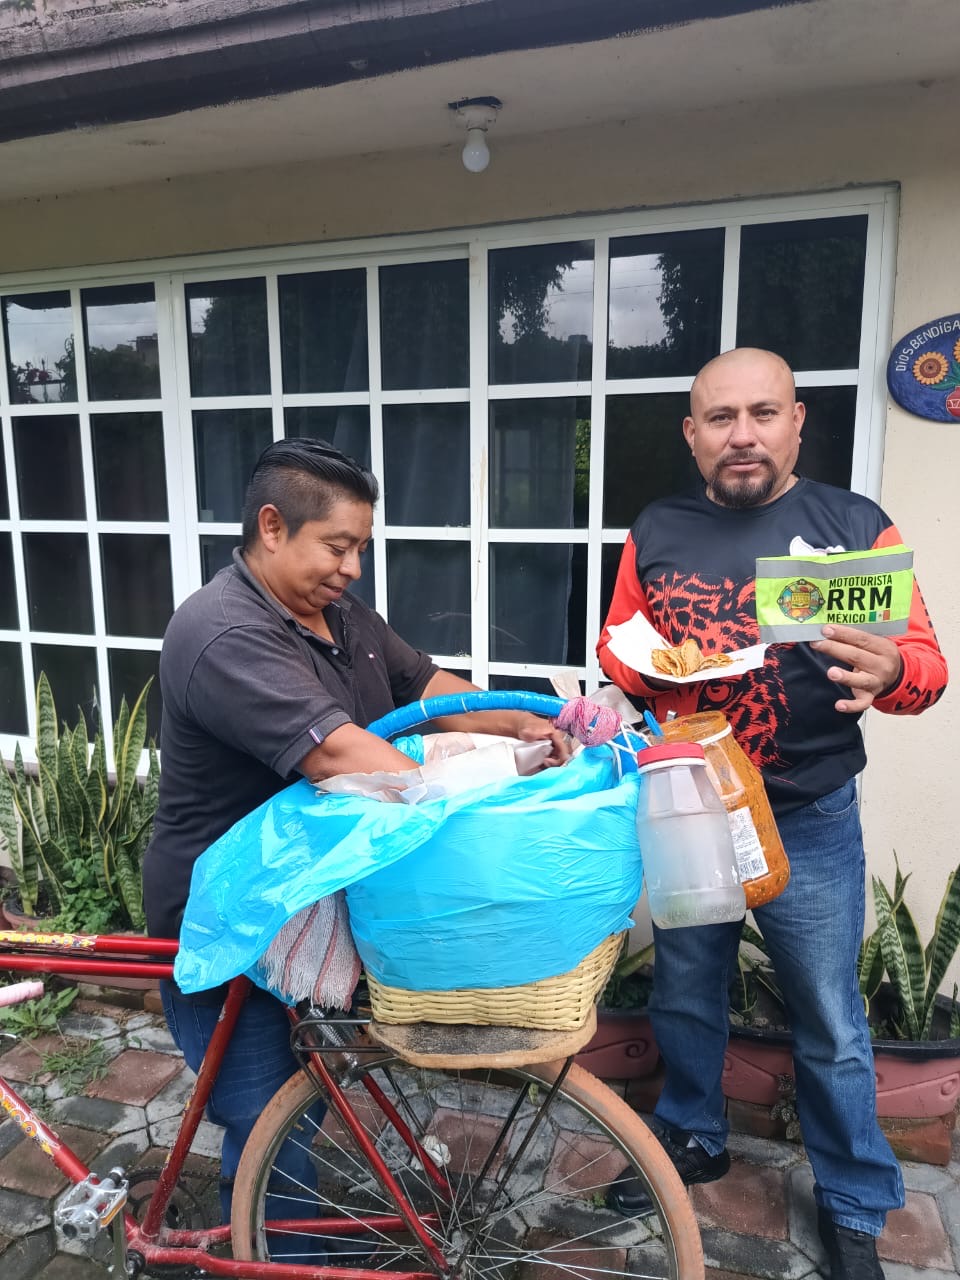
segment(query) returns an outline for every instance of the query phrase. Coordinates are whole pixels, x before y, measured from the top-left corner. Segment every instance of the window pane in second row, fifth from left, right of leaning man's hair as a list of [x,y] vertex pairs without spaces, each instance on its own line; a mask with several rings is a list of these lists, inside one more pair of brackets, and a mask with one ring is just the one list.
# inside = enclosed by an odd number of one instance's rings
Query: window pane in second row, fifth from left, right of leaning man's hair
[[470,406],[385,404],[388,525],[470,524]]

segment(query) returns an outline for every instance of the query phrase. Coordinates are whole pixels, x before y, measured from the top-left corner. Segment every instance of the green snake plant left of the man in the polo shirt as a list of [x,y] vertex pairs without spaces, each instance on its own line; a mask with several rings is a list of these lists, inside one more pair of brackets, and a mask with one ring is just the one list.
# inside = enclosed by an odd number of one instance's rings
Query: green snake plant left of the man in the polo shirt
[[20,910],[45,905],[63,932],[142,931],[141,863],[157,804],[159,762],[137,778],[146,742],[150,681],[132,708],[125,698],[114,724],[113,776],[102,726],[92,748],[83,716],[58,731],[45,673],[37,681],[36,773],[19,745],[10,772],[0,756],[0,856],[13,869]]

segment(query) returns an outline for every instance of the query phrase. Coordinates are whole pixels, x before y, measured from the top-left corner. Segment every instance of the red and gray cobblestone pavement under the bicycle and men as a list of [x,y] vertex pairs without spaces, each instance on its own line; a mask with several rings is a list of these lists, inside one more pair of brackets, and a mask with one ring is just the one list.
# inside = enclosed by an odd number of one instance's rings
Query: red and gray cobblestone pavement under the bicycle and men
[[[120,993],[78,1000],[61,1030],[69,1042],[102,1046],[105,1074],[68,1096],[42,1074],[59,1037],[20,1042],[3,1053],[3,1073],[99,1174],[119,1165],[132,1196],[145,1194],[163,1162],[193,1076],[183,1066],[150,995],[133,1007]],[[154,1005],[154,1007],[151,1007]],[[9,1041],[0,1044],[0,1051]],[[101,1069],[102,1070],[102,1069]],[[216,1199],[219,1130],[204,1123],[191,1156],[188,1190]],[[733,1134],[733,1164],[721,1181],[692,1189],[710,1280],[817,1276],[813,1178],[801,1148]],[[906,1207],[891,1213],[879,1240],[887,1280],[951,1280],[960,1274],[960,1139],[947,1166],[904,1165]],[[102,1267],[76,1244],[58,1249],[52,1210],[65,1179],[12,1120],[0,1124],[0,1280],[93,1280]],[[102,1247],[102,1248],[101,1248]],[[97,1244],[109,1252],[108,1242]]]

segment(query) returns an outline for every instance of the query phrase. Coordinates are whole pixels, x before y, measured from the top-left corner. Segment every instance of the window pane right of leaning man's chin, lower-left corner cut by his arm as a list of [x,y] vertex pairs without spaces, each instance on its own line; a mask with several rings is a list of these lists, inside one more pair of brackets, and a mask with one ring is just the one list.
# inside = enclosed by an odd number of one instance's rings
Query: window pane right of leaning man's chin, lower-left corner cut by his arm
[[470,653],[470,544],[387,545],[390,626],[426,653]]

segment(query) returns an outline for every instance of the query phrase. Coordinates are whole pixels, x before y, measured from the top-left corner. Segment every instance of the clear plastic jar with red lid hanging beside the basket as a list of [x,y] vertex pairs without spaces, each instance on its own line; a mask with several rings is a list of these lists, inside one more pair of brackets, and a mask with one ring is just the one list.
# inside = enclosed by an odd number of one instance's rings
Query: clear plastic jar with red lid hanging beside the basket
[[746,900],[727,812],[696,744],[637,755],[636,829],[650,915],[663,929],[740,920]]

